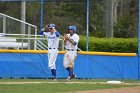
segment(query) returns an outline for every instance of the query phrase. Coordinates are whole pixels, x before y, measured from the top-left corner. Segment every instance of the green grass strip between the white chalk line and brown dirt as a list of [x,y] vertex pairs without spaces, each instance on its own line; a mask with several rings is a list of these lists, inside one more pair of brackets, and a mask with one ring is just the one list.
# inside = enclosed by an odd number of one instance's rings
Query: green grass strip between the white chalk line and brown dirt
[[123,85],[104,85],[104,84],[64,84],[64,83],[0,85],[0,93],[56,93],[56,92],[108,89],[120,87],[128,87],[128,85],[123,86]]

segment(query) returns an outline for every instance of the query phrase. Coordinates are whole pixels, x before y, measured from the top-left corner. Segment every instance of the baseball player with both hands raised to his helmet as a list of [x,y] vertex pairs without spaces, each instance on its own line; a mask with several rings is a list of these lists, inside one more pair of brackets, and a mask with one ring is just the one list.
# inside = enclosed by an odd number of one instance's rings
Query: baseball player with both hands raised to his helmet
[[[49,29],[49,32],[45,32]],[[47,37],[48,40],[48,66],[52,73],[52,79],[57,81],[56,77],[56,66],[55,61],[58,55],[58,45],[59,45],[59,32],[55,29],[55,24],[49,24],[45,28],[42,29],[42,35]]]

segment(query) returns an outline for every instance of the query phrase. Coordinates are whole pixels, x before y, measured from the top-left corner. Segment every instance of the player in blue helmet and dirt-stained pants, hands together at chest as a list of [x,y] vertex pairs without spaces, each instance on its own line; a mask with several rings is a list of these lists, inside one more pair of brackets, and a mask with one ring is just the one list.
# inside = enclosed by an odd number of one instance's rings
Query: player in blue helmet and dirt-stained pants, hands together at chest
[[64,55],[63,65],[66,70],[69,72],[69,76],[67,78],[68,81],[76,77],[76,74],[73,72],[74,68],[74,60],[77,56],[77,46],[79,42],[79,36],[76,34],[76,27],[69,26],[68,28],[69,34],[64,34],[64,43],[66,52]]

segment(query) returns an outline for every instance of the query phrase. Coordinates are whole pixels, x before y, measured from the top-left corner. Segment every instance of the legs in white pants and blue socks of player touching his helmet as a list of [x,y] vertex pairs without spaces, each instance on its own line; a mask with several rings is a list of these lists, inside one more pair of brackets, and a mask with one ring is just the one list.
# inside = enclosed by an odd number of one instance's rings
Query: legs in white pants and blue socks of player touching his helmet
[[57,79],[57,77],[56,77],[56,65],[55,65],[57,55],[58,55],[58,50],[52,50],[51,54],[50,54],[49,64],[48,64],[49,68],[51,69],[52,77],[54,80]]

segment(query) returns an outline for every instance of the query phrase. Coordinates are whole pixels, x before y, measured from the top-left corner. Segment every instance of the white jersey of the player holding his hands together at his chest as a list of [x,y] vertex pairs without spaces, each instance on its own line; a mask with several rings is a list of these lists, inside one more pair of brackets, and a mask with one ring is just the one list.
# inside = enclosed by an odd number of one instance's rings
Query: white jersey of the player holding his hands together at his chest
[[65,45],[65,48],[66,49],[74,49],[74,50],[77,50],[77,46],[78,46],[78,42],[79,42],[79,36],[77,34],[73,34],[72,36],[70,34],[67,34],[68,37],[74,41],[74,44],[71,44],[69,41],[66,41],[66,45]]

